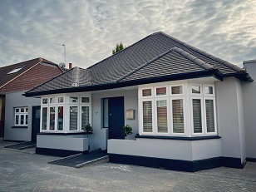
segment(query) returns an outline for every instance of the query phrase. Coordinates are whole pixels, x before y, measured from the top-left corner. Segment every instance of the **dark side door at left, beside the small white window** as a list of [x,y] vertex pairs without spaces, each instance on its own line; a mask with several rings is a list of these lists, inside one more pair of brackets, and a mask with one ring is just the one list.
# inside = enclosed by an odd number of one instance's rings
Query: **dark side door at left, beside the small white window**
[[40,106],[32,106],[32,135],[31,141],[37,143],[37,133],[40,132]]

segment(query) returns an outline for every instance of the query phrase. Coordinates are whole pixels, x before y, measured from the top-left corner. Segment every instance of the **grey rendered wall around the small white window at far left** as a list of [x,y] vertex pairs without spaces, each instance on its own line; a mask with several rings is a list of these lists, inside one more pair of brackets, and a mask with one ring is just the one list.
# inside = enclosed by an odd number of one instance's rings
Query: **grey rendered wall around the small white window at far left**
[[[24,92],[6,94],[4,140],[31,140],[32,106],[40,106],[40,99],[22,96]],[[27,128],[12,128],[14,126],[14,107],[28,107]]]

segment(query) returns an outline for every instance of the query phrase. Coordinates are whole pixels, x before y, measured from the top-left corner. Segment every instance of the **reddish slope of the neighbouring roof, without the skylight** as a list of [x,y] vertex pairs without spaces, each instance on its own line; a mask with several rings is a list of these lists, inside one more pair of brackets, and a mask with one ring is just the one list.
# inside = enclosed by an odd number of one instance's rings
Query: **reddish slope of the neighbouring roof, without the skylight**
[[34,86],[38,86],[42,82],[48,81],[61,73],[62,70],[57,66],[38,64],[21,76],[18,76],[15,80],[9,82],[6,86],[3,86],[0,91],[11,92],[30,90]]

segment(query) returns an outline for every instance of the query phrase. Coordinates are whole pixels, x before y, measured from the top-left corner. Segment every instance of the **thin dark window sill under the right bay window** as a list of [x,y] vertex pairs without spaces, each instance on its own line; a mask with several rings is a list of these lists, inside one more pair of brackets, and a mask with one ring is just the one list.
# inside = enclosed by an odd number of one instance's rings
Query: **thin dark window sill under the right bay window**
[[160,140],[212,140],[212,139],[220,139],[221,137],[218,135],[211,136],[155,136],[155,135],[135,135],[135,138],[145,138],[145,139],[160,139]]

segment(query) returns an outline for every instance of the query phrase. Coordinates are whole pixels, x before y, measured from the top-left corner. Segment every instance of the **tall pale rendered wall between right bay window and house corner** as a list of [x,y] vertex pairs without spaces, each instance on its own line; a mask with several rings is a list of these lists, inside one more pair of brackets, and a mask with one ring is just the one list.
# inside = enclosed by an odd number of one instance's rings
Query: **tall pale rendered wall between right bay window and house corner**
[[234,77],[215,83],[217,121],[222,140],[222,156],[246,158],[243,96],[240,81]]

